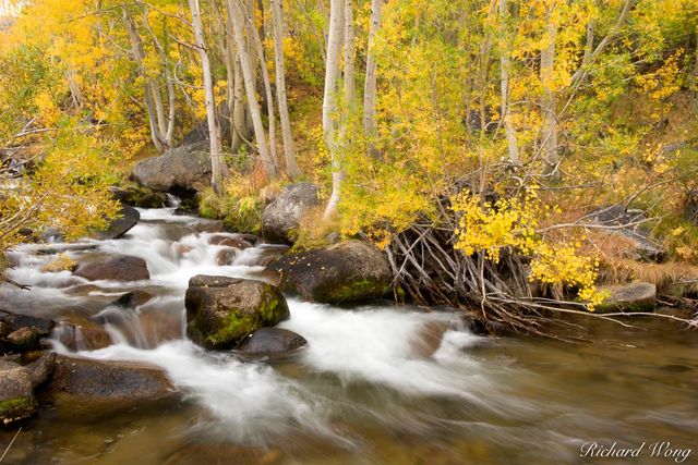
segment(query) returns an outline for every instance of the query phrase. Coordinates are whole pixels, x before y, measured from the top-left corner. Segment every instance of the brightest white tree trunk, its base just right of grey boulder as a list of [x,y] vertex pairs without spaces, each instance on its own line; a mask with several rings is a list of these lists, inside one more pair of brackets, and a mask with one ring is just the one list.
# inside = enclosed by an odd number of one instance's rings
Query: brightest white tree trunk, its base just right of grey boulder
[[325,91],[323,96],[323,132],[332,157],[332,196],[325,209],[325,219],[337,212],[344,173],[337,150],[337,81],[339,78],[339,56],[342,36],[341,20],[344,0],[329,2],[329,33],[327,39],[327,62],[325,64]]

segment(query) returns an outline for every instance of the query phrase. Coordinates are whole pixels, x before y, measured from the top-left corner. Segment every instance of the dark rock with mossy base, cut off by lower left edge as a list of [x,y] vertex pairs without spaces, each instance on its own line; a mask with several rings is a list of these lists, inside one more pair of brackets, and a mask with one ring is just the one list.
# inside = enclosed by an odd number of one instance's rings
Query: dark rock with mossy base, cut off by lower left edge
[[29,418],[36,412],[32,374],[25,367],[0,359],[0,419],[4,425]]

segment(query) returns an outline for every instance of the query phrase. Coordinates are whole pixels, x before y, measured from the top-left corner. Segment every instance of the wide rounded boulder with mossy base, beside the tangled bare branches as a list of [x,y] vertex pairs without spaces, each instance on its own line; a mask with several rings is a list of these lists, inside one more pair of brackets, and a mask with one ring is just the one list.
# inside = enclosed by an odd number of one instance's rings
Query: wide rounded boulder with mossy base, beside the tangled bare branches
[[393,279],[387,258],[361,241],[287,255],[269,268],[279,273],[284,292],[326,304],[380,298]]

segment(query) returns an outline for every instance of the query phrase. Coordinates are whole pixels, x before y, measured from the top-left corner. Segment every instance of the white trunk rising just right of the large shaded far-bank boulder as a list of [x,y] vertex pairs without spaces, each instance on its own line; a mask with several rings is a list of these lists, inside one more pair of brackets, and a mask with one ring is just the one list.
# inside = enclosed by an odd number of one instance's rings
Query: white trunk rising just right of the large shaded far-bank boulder
[[210,72],[210,61],[204,40],[204,29],[201,23],[201,11],[198,0],[189,0],[189,8],[192,12],[192,25],[194,27],[194,38],[201,57],[202,71],[204,74],[204,94],[206,105],[206,120],[208,122],[208,137],[210,139],[210,183],[214,192],[224,192],[224,179],[228,175],[228,169],[222,158],[222,143],[220,140],[220,127],[216,112],[216,99],[214,94],[214,79]]

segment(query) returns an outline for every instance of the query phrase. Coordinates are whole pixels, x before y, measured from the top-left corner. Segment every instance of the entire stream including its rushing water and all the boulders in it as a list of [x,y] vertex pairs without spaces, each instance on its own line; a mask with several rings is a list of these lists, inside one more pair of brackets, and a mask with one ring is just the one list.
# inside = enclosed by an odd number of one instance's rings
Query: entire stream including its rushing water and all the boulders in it
[[447,309],[376,301],[389,273],[363,244],[281,258],[215,221],[139,213],[118,238],[11,254],[10,277],[32,287],[0,294],[3,352],[19,354],[0,364],[7,463],[558,464],[590,441],[695,449],[698,339],[678,325],[577,321],[593,345],[480,336]]

